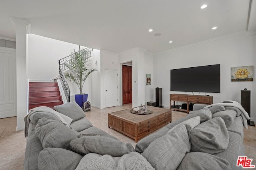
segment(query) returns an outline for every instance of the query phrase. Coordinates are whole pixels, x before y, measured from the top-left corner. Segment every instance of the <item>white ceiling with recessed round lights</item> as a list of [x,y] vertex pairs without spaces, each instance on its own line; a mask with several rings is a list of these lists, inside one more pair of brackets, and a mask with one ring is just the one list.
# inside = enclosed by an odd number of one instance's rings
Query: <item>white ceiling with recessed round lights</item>
[[158,53],[255,32],[256,0],[0,0],[0,37],[15,39],[9,17],[30,21],[31,32],[44,37],[115,53],[134,47]]

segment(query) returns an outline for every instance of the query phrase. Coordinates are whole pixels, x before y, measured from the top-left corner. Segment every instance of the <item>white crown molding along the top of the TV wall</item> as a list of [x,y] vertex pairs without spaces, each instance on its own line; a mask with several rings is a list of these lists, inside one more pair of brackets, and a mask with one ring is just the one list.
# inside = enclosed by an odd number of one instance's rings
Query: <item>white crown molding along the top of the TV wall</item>
[[171,52],[171,51],[177,51],[177,50],[181,50],[181,49],[186,49],[186,48],[194,47],[194,46],[201,45],[201,44],[204,44],[204,43],[219,41],[219,40],[222,40],[222,39],[228,39],[230,37],[236,37],[236,36],[239,36],[239,35],[245,35],[245,33],[246,33],[246,31],[240,31],[240,32],[237,32],[237,33],[232,33],[232,34],[224,35],[224,36],[221,36],[221,37],[217,37],[217,38],[213,38],[213,39],[208,39],[208,40],[205,40],[205,41],[200,41],[200,42],[192,43],[192,44],[189,44],[189,45],[184,45],[184,46],[177,47],[177,48],[174,48],[174,49],[169,49],[169,50],[166,50],[166,51],[161,51],[161,52],[155,53],[155,55],[163,54],[163,53],[167,53],[167,52]]

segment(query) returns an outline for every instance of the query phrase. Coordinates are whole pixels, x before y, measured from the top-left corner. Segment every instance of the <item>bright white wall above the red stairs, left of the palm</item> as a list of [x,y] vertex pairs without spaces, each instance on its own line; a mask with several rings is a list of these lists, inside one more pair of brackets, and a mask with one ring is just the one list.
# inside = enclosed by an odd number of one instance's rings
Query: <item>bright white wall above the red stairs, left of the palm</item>
[[28,79],[52,80],[59,74],[58,60],[70,55],[73,49],[78,51],[78,45],[28,34]]

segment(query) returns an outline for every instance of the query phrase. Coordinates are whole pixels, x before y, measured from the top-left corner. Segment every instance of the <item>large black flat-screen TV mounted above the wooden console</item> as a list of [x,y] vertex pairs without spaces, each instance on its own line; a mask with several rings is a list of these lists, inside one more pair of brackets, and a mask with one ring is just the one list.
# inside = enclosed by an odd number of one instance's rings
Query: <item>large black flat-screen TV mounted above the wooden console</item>
[[171,70],[171,91],[220,93],[220,64]]

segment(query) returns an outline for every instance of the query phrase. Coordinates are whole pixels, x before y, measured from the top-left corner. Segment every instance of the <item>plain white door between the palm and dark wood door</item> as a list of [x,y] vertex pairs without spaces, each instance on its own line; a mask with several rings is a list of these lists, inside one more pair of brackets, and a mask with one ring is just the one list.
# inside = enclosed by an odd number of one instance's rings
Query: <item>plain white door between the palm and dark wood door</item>
[[117,70],[105,70],[105,107],[118,105]]

